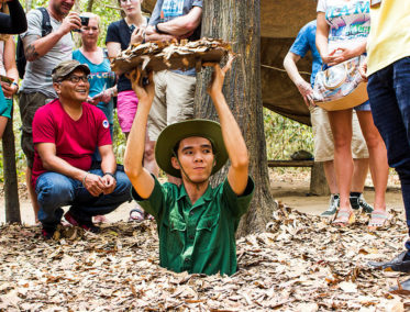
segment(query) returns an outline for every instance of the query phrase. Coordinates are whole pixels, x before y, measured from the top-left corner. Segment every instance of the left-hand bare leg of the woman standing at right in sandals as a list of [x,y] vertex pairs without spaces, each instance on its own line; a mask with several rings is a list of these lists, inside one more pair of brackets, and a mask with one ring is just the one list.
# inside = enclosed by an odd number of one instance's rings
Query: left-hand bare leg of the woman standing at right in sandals
[[340,192],[340,210],[350,212],[352,210],[350,193],[353,176],[353,158],[351,148],[352,110],[331,111],[329,112],[329,121],[334,140],[334,169]]

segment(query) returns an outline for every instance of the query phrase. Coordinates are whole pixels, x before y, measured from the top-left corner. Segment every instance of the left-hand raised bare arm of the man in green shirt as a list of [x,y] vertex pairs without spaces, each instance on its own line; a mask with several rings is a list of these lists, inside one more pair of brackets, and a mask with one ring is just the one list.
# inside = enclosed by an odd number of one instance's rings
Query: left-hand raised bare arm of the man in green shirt
[[138,98],[138,109],[131,127],[124,155],[124,169],[138,196],[147,199],[154,190],[154,178],[143,167],[146,122],[154,100],[153,73],[149,73],[149,83],[142,86],[140,69],[131,74],[132,88]]

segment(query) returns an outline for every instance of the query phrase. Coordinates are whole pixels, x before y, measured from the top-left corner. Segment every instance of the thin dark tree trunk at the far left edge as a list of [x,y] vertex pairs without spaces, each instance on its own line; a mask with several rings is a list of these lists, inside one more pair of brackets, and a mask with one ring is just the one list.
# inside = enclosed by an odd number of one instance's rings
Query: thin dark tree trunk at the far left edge
[[5,201],[5,222],[21,223],[19,187],[15,168],[15,148],[13,119],[7,123],[3,138],[3,172],[4,172],[4,201]]

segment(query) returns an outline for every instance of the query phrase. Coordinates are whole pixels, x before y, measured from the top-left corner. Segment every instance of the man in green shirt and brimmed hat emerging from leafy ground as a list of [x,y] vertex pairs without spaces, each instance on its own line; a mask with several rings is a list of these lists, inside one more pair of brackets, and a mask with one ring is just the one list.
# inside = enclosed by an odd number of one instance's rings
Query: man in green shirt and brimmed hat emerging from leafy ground
[[[235,231],[250,205],[254,183],[248,176],[248,154],[241,130],[222,93],[232,59],[214,73],[208,92],[221,125],[189,120],[167,126],[159,135],[155,158],[167,174],[182,179],[181,186],[163,186],[142,166],[145,125],[154,98],[152,74],[142,87],[141,71],[133,73],[133,89],[140,100],[126,144],[124,166],[133,198],[158,224],[159,264],[190,274],[236,271]],[[212,189],[211,175],[231,160],[226,179]]]

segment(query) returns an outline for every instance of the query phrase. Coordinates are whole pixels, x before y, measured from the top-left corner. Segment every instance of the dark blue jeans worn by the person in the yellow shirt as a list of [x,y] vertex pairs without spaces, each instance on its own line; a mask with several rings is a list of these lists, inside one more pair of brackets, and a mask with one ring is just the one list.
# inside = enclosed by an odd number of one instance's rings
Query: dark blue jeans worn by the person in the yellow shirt
[[[387,147],[390,167],[401,181],[410,234],[410,57],[401,58],[368,78],[373,120]],[[406,243],[410,256],[410,241]]]

